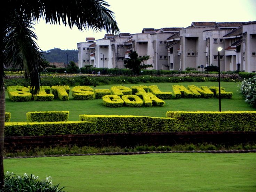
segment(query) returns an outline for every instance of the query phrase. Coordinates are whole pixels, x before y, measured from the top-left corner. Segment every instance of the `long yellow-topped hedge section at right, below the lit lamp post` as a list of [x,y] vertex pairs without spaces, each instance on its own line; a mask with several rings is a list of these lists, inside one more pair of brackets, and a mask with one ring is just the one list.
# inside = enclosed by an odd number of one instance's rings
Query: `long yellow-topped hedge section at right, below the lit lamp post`
[[256,111],[168,111],[183,131],[255,131]]

